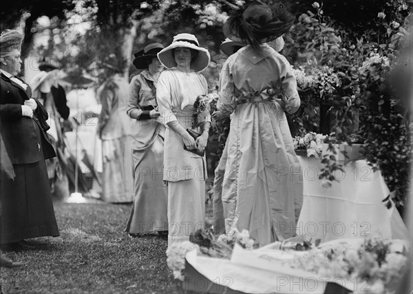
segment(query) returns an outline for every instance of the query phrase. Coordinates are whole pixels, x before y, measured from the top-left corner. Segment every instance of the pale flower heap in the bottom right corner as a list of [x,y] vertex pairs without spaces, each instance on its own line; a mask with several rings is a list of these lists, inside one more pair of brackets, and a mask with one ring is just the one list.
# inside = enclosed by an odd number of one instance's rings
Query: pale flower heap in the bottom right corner
[[335,241],[331,246],[312,249],[306,255],[292,252],[292,259],[281,262],[292,269],[350,281],[354,284],[353,293],[394,291],[407,266],[405,246],[378,238],[357,245]]

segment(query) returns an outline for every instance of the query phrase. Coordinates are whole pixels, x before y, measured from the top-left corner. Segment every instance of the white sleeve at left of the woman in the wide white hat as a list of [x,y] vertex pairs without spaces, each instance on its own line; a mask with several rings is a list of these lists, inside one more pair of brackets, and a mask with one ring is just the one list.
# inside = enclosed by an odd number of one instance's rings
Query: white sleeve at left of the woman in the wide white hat
[[178,120],[172,112],[172,92],[168,76],[169,74],[167,71],[162,72],[159,76],[156,88],[156,101],[158,101],[159,112],[162,116],[162,123],[164,125],[167,125],[167,123],[170,123],[171,121]]

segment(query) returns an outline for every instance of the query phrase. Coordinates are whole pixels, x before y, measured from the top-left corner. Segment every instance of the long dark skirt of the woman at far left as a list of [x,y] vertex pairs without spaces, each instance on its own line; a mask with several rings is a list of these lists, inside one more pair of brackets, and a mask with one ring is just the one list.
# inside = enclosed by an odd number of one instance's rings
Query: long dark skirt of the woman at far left
[[[37,129],[38,138],[41,136]],[[52,193],[43,158],[38,162],[13,165],[14,181],[0,182],[0,244],[59,235]]]

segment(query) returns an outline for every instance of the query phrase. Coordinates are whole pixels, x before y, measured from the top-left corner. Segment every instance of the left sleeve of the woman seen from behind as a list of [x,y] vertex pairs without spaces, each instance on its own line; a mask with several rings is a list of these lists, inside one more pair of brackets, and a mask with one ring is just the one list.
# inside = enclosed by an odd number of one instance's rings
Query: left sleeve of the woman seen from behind
[[234,95],[234,81],[229,67],[229,60],[227,59],[222,67],[220,74],[220,98],[217,102],[217,109],[224,115],[230,116],[234,111],[236,104]]

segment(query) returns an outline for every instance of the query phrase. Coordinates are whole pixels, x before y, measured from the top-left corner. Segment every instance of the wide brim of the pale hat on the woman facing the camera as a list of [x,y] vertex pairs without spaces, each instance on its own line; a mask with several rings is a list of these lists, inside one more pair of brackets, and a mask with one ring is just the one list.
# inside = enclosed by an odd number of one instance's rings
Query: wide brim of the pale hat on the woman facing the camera
[[181,47],[197,50],[199,52],[197,58],[191,61],[191,70],[195,70],[195,72],[202,72],[207,69],[209,63],[211,62],[211,55],[209,55],[208,50],[186,41],[175,41],[167,48],[161,50],[158,53],[160,63],[167,68],[176,67],[177,63],[175,61],[175,56],[173,56],[172,49]]

